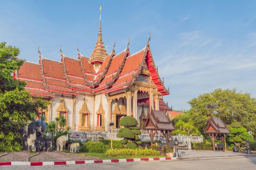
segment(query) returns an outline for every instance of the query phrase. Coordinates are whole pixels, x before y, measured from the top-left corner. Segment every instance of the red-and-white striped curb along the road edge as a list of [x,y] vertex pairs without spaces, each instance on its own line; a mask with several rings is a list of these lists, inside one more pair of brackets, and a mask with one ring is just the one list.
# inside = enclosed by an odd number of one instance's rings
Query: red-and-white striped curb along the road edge
[[4,165],[27,165],[27,166],[45,166],[45,165],[74,165],[87,163],[117,163],[117,162],[135,162],[135,161],[161,161],[174,160],[175,157],[161,158],[134,158],[134,159],[106,159],[106,160],[87,160],[87,161],[54,161],[54,162],[0,162],[0,166]]

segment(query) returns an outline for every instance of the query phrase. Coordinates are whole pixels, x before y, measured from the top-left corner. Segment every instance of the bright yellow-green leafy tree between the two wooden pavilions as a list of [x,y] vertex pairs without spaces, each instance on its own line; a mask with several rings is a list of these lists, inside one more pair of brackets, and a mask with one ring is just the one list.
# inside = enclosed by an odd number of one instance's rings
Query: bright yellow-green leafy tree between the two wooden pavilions
[[198,136],[201,135],[201,133],[199,132],[199,130],[197,128],[195,128],[191,123],[185,123],[182,120],[177,121],[177,123],[175,124],[176,129],[173,130],[172,134],[173,135],[185,135],[185,136],[189,136],[189,135],[193,135],[193,136]]

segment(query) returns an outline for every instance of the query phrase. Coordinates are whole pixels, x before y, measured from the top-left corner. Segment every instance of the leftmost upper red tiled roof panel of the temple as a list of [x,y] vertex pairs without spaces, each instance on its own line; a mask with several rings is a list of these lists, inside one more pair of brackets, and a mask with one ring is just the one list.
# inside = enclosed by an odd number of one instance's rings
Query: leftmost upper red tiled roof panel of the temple
[[42,80],[40,65],[24,62],[23,65],[18,69],[18,77]]

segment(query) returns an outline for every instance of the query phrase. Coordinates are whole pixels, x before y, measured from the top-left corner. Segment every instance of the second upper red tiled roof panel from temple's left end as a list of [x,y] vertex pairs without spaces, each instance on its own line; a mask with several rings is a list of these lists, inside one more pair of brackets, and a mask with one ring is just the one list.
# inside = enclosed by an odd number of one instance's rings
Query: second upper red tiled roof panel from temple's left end
[[65,79],[64,71],[61,62],[52,61],[48,59],[42,60],[43,72],[45,76]]

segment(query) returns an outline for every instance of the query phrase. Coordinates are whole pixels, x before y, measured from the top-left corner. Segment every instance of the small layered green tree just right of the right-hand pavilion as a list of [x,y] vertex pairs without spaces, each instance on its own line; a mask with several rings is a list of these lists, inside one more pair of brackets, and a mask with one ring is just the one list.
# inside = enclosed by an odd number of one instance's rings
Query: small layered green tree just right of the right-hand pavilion
[[239,148],[246,140],[253,140],[253,136],[238,122],[232,123],[228,128],[230,130],[230,134],[227,136],[228,141],[234,142]]

